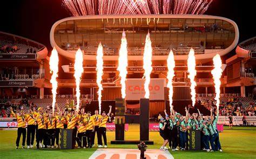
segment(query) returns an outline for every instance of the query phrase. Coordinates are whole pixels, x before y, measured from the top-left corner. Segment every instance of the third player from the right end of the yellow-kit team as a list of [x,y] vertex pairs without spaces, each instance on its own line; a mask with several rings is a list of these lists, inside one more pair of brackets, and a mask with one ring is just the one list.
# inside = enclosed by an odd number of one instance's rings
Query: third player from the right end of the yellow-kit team
[[88,147],[92,148],[92,133],[95,131],[95,122],[91,116],[91,112],[87,112],[87,117],[85,118],[86,122],[86,136],[87,136],[87,142]]

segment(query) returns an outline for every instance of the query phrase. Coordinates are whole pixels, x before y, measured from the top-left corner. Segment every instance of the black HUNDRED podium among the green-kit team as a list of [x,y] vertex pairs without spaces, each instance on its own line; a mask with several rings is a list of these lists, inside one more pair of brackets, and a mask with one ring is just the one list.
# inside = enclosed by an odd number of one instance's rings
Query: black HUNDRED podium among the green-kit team
[[201,150],[201,132],[197,129],[188,130],[188,150]]

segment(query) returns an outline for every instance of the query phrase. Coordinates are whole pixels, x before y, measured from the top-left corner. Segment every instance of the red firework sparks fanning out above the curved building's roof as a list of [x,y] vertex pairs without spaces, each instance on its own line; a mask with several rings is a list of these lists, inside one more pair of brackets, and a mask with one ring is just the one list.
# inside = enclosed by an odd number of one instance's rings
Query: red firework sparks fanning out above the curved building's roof
[[72,16],[203,14],[212,0],[63,0]]

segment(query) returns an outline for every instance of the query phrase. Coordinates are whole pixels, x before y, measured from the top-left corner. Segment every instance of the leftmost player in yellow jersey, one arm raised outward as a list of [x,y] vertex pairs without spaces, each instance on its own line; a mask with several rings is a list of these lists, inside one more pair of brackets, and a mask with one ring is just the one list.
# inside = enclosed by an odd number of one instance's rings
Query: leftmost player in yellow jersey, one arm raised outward
[[21,139],[22,134],[22,148],[25,148],[25,141],[26,141],[26,115],[24,111],[21,111],[21,113],[14,113],[12,111],[12,107],[10,108],[11,114],[14,115],[14,118],[17,118],[18,121],[18,133],[17,133],[17,139],[16,139],[16,149],[19,147],[19,140]]

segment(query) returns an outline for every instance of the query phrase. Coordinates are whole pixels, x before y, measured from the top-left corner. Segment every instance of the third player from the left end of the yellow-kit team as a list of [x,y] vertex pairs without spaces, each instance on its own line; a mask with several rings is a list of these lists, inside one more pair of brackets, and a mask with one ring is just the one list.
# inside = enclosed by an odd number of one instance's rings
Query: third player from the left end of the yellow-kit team
[[37,125],[38,125],[38,129],[37,129],[37,138],[36,138],[36,147],[39,149],[39,142],[42,141],[42,139],[44,140],[44,145],[45,148],[48,142],[47,139],[47,135],[46,135],[46,124],[47,124],[47,118],[45,117],[45,115],[42,113],[40,115],[38,115],[37,117]]

